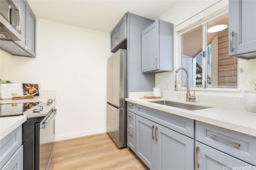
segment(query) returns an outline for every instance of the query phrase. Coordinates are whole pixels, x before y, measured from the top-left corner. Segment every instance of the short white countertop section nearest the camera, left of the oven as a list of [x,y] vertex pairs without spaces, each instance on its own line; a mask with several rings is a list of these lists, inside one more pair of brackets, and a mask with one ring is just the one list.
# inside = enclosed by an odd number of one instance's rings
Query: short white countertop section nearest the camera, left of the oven
[[22,125],[27,120],[26,115],[1,117],[0,118],[0,140],[6,137],[14,129]]

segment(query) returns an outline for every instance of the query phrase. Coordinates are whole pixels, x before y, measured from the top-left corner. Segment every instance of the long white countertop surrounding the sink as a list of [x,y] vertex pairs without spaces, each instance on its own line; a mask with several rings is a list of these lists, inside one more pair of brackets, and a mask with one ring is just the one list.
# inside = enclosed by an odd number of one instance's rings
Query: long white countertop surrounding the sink
[[[139,98],[126,98],[127,102],[132,102],[142,106],[150,107],[153,109],[158,109],[174,115],[180,115],[182,117],[187,117],[197,121],[202,121],[209,123],[211,125],[216,125],[219,127],[224,127],[233,131],[238,131],[248,135],[256,137],[256,113],[251,113],[245,109],[232,108],[232,107],[212,107],[208,109],[200,110],[186,110],[177,107],[165,106],[161,104],[155,104],[149,101],[156,101],[153,99],[139,99]],[[158,100],[164,100],[158,99]],[[177,102],[174,100],[169,100]],[[195,104],[193,102],[180,102],[186,104],[193,104],[199,106],[205,106],[200,104]]]

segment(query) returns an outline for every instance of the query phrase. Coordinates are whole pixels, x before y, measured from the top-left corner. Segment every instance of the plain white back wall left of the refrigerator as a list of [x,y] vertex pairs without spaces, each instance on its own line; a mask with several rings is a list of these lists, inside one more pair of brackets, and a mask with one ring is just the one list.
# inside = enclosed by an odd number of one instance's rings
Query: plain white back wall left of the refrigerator
[[0,54],[2,79],[56,90],[56,141],[106,132],[109,33],[37,19],[36,58]]

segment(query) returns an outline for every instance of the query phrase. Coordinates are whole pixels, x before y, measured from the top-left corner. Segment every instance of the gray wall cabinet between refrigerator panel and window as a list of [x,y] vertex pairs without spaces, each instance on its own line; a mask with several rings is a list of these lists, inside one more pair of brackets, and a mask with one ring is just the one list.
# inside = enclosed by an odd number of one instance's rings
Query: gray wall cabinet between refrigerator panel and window
[[173,71],[173,24],[156,20],[142,31],[142,72]]

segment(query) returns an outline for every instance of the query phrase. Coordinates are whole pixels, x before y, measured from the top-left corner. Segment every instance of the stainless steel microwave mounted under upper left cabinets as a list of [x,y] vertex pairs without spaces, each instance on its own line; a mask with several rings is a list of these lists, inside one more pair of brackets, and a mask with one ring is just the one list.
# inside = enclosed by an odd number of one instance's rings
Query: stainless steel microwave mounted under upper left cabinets
[[21,41],[21,10],[11,0],[0,0],[0,39]]

